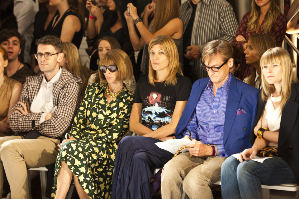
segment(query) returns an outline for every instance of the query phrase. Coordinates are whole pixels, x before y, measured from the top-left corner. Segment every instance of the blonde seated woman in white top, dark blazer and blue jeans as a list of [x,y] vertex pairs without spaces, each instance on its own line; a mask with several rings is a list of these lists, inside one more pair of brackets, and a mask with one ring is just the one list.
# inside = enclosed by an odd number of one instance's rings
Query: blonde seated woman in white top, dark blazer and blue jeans
[[[296,183],[299,179],[299,84],[287,50],[272,48],[261,57],[262,88],[249,141],[238,158],[229,157],[221,168],[225,198],[263,198],[261,184]],[[279,156],[263,163],[252,160],[259,150],[271,146]],[[260,154],[261,155],[261,154]]]

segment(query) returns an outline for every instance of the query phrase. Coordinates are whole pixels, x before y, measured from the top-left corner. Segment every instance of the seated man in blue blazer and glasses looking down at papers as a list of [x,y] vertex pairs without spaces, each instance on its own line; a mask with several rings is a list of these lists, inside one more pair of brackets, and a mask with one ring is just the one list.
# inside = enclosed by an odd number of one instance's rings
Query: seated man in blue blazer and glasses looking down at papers
[[251,147],[259,90],[229,72],[232,57],[231,45],[221,39],[203,49],[201,67],[209,78],[194,82],[175,132],[177,139],[192,139],[193,144],[164,165],[162,198],[181,198],[184,190],[191,199],[212,199],[210,187],[220,180],[221,164]]

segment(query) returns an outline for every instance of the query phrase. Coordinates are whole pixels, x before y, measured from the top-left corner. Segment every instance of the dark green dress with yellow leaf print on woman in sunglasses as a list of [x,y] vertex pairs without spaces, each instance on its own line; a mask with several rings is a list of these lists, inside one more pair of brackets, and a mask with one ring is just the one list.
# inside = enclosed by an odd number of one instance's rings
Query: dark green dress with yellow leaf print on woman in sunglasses
[[75,115],[70,137],[57,156],[51,197],[55,197],[57,174],[64,161],[78,177],[90,198],[110,198],[117,145],[129,128],[133,95],[126,89],[107,105],[106,83],[86,88]]

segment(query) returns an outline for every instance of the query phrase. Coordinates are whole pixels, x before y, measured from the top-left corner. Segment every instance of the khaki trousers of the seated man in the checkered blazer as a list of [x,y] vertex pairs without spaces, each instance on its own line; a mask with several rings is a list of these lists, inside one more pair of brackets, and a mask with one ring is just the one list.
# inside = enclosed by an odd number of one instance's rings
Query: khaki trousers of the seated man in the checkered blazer
[[12,199],[29,199],[27,168],[37,168],[56,161],[58,139],[40,136],[0,137],[0,196],[3,191],[3,167],[11,189]]

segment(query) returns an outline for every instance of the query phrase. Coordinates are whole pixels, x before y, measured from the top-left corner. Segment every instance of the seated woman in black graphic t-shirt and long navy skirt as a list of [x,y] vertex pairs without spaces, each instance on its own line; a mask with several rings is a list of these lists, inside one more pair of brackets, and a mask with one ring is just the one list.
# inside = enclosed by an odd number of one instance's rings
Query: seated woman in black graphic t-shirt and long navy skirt
[[183,76],[173,40],[154,37],[149,52],[149,76],[137,82],[130,118],[130,130],[140,136],[127,136],[118,145],[112,198],[150,198],[154,168],[173,157],[155,143],[174,139],[190,94],[191,81]]

